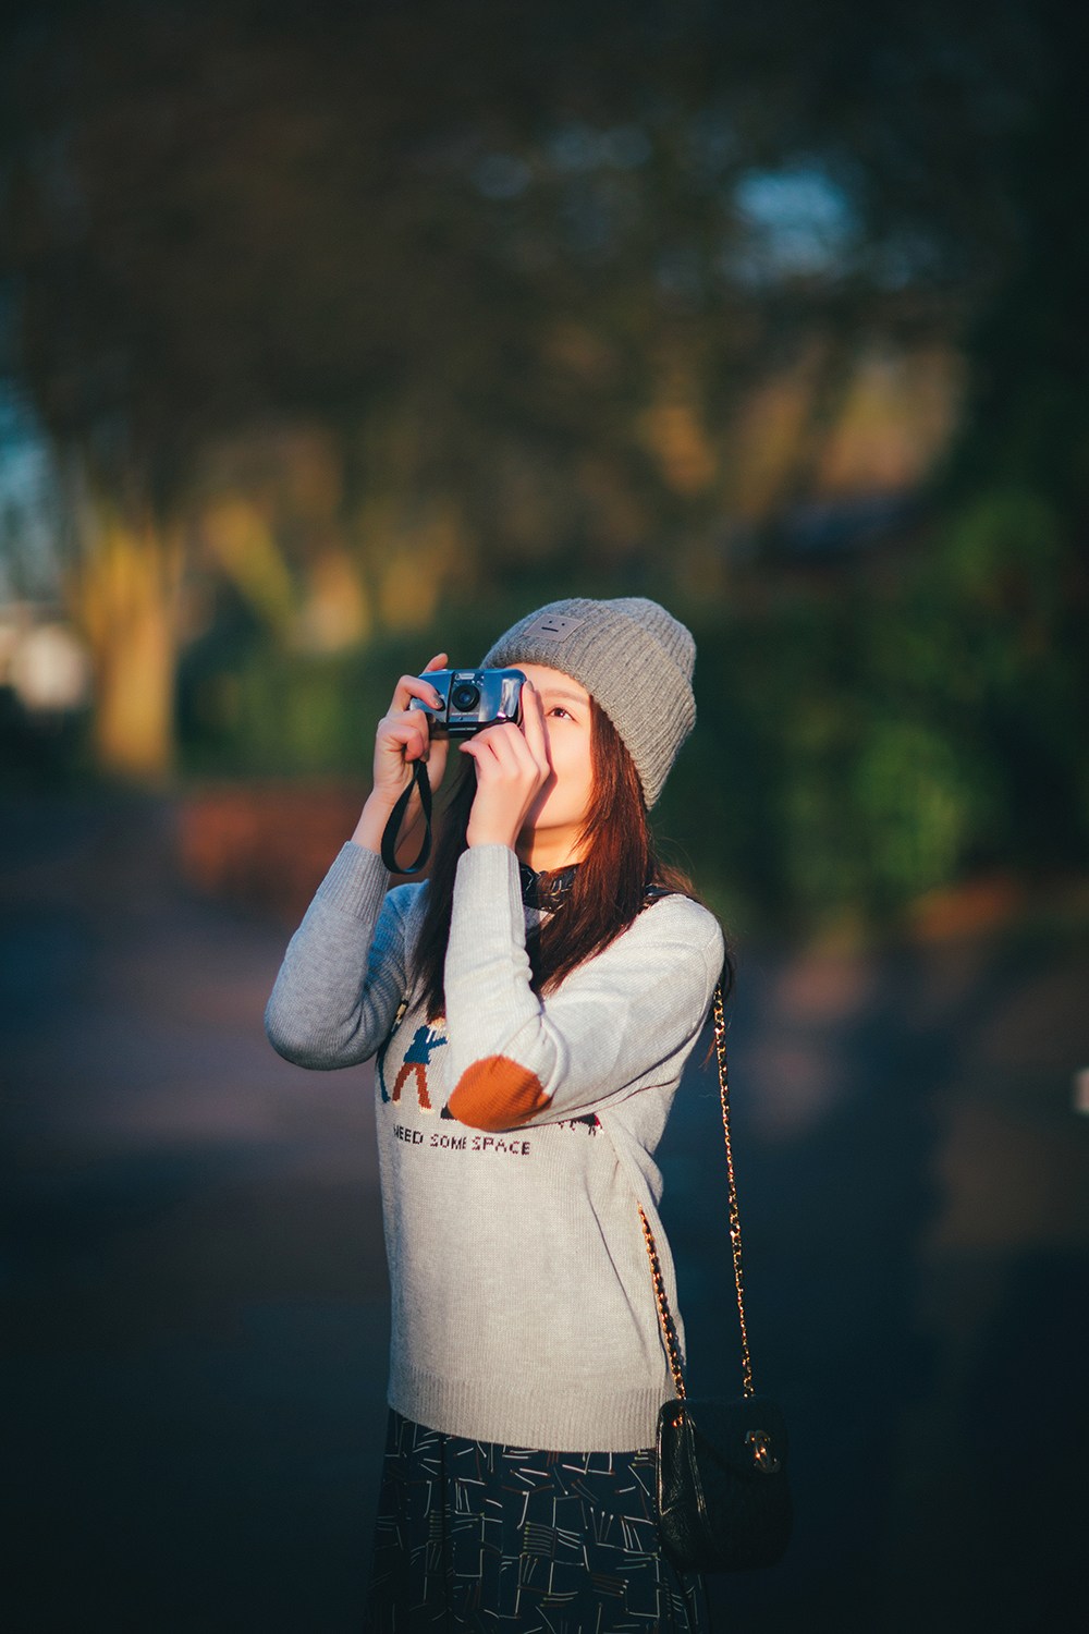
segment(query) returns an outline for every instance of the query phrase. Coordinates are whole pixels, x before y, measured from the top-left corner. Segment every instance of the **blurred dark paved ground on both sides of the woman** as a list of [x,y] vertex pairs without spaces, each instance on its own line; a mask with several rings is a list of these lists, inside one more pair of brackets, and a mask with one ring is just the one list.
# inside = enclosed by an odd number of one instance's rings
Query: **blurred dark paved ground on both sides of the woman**
[[[261,1010],[284,930],[158,806],[0,806],[5,1554],[52,1631],[359,1626],[384,1423],[366,1070]],[[725,1634],[1084,1626],[1089,949],[743,962],[735,1127],[795,1546]],[[665,1152],[694,1389],[736,1377],[713,1083]]]

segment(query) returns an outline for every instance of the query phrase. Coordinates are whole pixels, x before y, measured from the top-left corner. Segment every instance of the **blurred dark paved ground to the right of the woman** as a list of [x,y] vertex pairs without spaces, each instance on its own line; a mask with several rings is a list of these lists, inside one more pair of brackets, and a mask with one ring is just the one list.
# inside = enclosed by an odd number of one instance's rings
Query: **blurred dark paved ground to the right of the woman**
[[[986,1069],[973,1052],[1035,989],[1051,1051],[1076,1059],[1073,972],[1038,944],[847,966],[746,959],[733,1007],[748,1332],[756,1387],[787,1413],[797,1521],[779,1569],[712,1580],[717,1626],[1073,1634],[1089,1131],[1069,1080],[1033,1069],[1032,1036],[988,1078],[989,1106],[975,1105]],[[730,1394],[741,1348],[713,1064],[687,1088],[663,1147],[665,1214],[691,1386]],[[975,1106],[963,1172],[950,1137],[962,1101]],[[1025,1127],[1006,1150],[1011,1109]],[[1048,1167],[1051,1141],[1061,1159]],[[1014,1180],[1024,1165],[1024,1185],[1007,1183],[1007,1163]],[[1030,1250],[1042,1229],[1068,1245]]]

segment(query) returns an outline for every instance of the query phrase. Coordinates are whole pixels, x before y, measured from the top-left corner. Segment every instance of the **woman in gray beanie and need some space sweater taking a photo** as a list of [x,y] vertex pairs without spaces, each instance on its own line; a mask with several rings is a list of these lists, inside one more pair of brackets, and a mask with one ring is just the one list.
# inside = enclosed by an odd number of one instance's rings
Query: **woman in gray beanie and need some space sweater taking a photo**
[[[410,708],[434,708],[446,654],[402,676],[269,1000],[289,1060],[377,1054],[393,1310],[371,1629],[700,1627],[658,1549],[674,1389],[638,1217],[676,1310],[653,1152],[723,941],[647,812],[696,721],[694,655],[643,598],[509,629],[483,667],[526,673],[521,727],[460,743],[431,882],[387,894],[390,812],[447,748]],[[411,825],[400,843],[415,855]]]

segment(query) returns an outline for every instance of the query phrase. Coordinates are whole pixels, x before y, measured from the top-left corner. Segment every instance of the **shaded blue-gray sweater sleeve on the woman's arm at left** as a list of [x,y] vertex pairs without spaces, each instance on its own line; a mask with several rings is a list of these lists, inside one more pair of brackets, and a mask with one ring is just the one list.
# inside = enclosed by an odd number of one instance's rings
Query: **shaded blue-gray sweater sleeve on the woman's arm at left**
[[348,842],[291,938],[264,1011],[273,1049],[299,1067],[351,1067],[382,1046],[407,993],[413,886],[385,887],[372,851]]

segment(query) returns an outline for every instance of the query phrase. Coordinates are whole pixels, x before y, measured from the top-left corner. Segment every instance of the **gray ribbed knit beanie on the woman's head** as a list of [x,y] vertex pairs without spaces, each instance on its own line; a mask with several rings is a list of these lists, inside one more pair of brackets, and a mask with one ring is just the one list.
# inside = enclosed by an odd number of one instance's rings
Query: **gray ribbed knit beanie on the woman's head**
[[635,761],[647,809],[696,725],[691,631],[656,601],[571,596],[531,613],[495,642],[485,668],[563,670],[601,704]]

